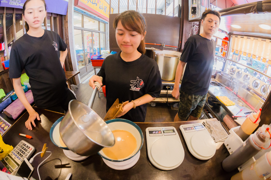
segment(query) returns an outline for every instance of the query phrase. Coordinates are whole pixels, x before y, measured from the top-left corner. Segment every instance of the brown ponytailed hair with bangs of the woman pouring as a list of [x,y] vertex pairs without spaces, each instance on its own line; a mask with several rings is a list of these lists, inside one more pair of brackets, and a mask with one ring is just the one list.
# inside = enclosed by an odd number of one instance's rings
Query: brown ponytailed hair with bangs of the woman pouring
[[121,21],[122,26],[125,29],[136,31],[144,36],[144,39],[141,40],[139,46],[137,47],[137,51],[145,54],[145,31],[147,24],[144,16],[137,11],[128,10],[124,11],[114,19],[113,26],[115,29],[117,28],[119,21]]

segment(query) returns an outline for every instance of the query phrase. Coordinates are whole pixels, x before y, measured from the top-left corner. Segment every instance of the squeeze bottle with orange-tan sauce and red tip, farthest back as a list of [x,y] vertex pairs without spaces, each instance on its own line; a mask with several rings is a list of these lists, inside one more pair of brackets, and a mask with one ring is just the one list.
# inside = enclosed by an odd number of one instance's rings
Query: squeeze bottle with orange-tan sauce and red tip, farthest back
[[249,135],[253,133],[253,131],[258,127],[260,122],[262,108],[257,113],[250,113],[243,124],[239,127],[239,129],[235,132],[243,141],[245,141]]

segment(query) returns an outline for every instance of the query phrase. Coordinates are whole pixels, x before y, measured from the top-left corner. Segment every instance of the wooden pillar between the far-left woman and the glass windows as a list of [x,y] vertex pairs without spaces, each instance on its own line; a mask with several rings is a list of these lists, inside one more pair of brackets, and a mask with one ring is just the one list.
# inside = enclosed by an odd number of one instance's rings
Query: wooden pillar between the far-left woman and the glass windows
[[[63,24],[64,24],[64,40],[66,42],[68,54],[66,57],[68,67],[65,67],[66,71],[76,71],[76,57],[75,57],[75,49],[74,49],[74,26],[71,26],[72,22],[72,14],[73,14],[73,5],[74,1],[68,1],[68,10],[67,15],[63,16]],[[78,76],[75,76],[71,79],[71,84],[79,84]]]

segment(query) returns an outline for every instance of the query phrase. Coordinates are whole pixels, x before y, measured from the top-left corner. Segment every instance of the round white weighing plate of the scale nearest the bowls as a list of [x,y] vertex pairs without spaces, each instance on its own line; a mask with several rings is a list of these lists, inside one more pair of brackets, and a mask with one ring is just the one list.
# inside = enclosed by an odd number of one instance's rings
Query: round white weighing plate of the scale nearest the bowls
[[167,168],[181,164],[185,155],[182,144],[173,138],[156,140],[150,154],[158,165]]

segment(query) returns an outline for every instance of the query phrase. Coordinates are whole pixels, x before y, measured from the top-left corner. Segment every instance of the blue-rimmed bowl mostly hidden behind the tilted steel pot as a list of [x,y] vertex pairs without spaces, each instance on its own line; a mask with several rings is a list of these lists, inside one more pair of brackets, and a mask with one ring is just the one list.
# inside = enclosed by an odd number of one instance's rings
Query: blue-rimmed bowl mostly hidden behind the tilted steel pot
[[[57,147],[59,148],[62,148],[62,149],[65,149],[65,150],[69,150],[67,148],[67,146],[63,146],[61,143],[60,143],[60,133],[59,133],[59,125],[60,125],[60,122],[62,121],[64,116],[60,117],[58,120],[56,120],[56,122],[54,122],[54,124],[52,125],[51,127],[51,130],[50,130],[50,138],[51,138],[51,141],[54,143],[54,145],[56,145]],[[61,140],[62,141],[62,140]],[[64,142],[62,141],[62,143],[64,144]]]

